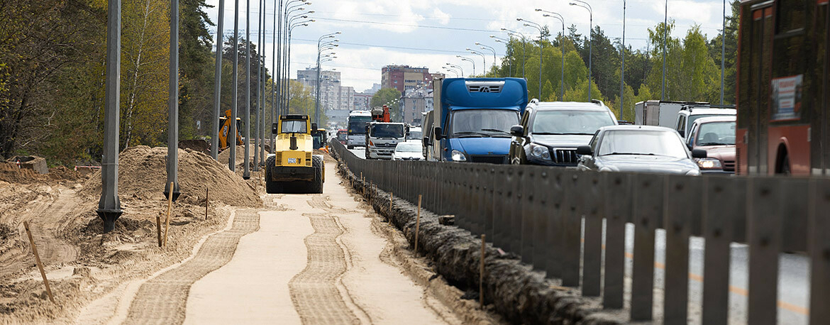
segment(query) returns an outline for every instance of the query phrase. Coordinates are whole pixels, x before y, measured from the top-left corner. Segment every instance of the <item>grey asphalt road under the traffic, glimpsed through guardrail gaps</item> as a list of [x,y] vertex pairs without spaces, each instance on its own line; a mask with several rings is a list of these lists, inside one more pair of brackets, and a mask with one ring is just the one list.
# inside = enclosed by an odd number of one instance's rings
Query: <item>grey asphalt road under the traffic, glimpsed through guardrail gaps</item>
[[[352,150],[355,155],[365,159],[364,147]],[[604,231],[604,230],[603,230]],[[634,248],[634,228],[626,226],[626,290],[631,286],[632,254]],[[666,263],[666,233],[657,230],[655,239],[654,288],[662,292]],[[692,237],[689,242],[689,322],[701,323],[701,302],[703,299],[703,254],[705,240]],[[730,248],[730,323],[747,322],[746,305],[749,290],[749,247],[745,244],[732,244]],[[809,314],[809,259],[798,254],[781,254],[779,258],[779,293],[778,323],[807,324]],[[662,297],[654,299],[655,318],[662,319]]]

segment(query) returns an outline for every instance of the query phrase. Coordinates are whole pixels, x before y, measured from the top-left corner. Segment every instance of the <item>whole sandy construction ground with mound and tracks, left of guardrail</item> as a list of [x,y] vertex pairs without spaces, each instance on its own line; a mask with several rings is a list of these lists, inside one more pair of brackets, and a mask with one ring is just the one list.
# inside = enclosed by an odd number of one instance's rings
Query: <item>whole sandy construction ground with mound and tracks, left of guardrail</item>
[[165,224],[167,150],[121,152],[124,214],[105,234],[100,172],[2,164],[0,323],[500,322],[414,254],[330,155],[317,151],[323,194],[267,195],[262,173],[243,180],[179,149]]

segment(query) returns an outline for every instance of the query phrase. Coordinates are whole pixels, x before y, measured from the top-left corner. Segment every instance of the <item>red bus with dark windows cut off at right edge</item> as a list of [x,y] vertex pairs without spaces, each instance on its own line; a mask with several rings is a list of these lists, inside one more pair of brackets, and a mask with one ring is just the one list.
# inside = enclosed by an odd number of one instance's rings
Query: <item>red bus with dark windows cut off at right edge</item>
[[830,0],[740,3],[741,175],[830,175]]

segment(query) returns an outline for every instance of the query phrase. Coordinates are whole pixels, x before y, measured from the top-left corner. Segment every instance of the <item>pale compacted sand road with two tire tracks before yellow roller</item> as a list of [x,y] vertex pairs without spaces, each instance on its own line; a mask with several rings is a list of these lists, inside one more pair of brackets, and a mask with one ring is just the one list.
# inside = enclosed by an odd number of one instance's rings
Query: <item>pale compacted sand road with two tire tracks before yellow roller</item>
[[[323,195],[266,195],[191,259],[132,284],[108,323],[461,323],[394,262],[326,162]],[[128,307],[129,306],[129,307]]]

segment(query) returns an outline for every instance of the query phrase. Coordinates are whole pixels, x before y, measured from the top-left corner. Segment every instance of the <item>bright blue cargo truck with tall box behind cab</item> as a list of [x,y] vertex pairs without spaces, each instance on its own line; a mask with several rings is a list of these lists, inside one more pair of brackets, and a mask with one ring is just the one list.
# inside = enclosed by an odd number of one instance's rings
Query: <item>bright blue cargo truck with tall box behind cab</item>
[[528,102],[525,79],[436,79],[432,96],[435,109],[423,126],[427,160],[508,163],[510,126]]

